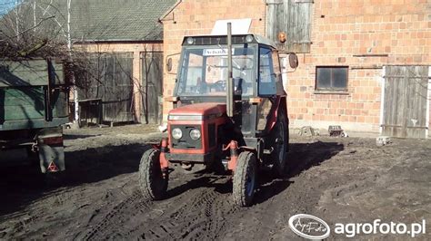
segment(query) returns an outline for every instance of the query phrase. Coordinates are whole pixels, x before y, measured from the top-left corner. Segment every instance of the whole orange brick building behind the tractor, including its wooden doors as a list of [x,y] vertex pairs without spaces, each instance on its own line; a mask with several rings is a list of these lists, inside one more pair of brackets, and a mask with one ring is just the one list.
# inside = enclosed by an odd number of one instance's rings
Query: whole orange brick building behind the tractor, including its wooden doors
[[[382,131],[426,138],[430,125],[431,2],[427,0],[184,0],[167,11],[164,53],[185,35],[210,34],[217,20],[251,18],[250,32],[296,52],[286,67],[291,127]],[[286,55],[286,54],[285,54]],[[175,61],[179,55],[173,55]],[[287,62],[284,62],[287,63]],[[165,72],[164,95],[175,75]],[[172,108],[164,103],[164,113]]]

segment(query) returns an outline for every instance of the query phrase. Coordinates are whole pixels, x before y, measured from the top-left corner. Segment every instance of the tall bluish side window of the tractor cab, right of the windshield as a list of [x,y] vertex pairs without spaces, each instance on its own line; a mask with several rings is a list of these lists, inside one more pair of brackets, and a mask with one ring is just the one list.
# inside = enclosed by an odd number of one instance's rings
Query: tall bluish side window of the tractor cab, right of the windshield
[[276,94],[276,74],[273,66],[272,51],[261,47],[259,49],[259,95]]

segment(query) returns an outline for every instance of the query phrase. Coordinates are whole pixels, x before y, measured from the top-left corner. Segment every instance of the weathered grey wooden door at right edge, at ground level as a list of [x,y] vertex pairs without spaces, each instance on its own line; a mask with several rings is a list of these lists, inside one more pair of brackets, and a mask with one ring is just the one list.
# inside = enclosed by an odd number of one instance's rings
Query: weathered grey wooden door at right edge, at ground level
[[428,66],[386,66],[382,134],[426,138]]

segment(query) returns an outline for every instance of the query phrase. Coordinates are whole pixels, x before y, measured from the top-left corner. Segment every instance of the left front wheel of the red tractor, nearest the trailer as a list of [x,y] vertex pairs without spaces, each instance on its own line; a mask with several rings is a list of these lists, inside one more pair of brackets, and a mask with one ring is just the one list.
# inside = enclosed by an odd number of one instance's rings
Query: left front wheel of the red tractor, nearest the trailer
[[160,168],[160,150],[147,149],[139,165],[139,188],[145,199],[159,200],[165,197],[168,177]]

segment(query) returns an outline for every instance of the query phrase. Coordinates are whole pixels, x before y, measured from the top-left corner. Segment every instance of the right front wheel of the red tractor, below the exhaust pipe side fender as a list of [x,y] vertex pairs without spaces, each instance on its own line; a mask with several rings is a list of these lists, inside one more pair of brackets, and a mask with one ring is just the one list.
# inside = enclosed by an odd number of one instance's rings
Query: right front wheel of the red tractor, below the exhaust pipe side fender
[[248,207],[253,203],[256,188],[256,155],[243,151],[236,160],[233,183],[234,202],[239,207]]

